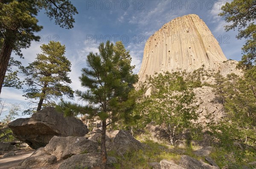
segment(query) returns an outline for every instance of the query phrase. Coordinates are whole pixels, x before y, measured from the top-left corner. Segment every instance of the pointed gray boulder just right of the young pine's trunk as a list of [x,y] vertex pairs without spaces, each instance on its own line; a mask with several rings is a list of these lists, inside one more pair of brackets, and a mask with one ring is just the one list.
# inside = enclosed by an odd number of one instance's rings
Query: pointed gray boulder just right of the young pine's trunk
[[116,151],[119,155],[139,149],[143,149],[143,144],[136,140],[130,132],[125,130],[120,130],[111,144],[111,150]]

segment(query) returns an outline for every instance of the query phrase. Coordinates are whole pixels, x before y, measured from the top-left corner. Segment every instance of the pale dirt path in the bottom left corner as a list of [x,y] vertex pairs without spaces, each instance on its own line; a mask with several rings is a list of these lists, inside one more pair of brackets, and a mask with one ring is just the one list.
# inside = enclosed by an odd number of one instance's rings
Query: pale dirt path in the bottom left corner
[[24,150],[18,150],[14,156],[0,158],[0,169],[9,169],[12,166],[17,166],[20,161],[32,155],[35,151],[26,152]]

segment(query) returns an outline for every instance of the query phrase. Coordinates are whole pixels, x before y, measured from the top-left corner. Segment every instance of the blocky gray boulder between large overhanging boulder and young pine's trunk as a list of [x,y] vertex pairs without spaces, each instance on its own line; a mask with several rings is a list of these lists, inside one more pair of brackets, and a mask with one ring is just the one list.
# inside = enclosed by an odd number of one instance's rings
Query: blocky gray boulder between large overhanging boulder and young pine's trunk
[[72,155],[96,152],[98,143],[85,137],[54,136],[44,147],[48,154],[55,155],[58,160],[70,158]]

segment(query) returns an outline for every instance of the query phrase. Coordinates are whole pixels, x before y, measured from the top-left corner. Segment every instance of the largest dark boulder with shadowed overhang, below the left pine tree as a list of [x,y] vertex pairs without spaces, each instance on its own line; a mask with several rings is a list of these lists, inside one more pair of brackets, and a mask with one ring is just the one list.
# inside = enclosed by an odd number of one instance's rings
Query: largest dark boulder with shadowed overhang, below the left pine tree
[[87,126],[75,117],[65,117],[54,107],[34,113],[31,118],[18,118],[8,124],[15,137],[34,149],[46,146],[53,136],[84,136]]

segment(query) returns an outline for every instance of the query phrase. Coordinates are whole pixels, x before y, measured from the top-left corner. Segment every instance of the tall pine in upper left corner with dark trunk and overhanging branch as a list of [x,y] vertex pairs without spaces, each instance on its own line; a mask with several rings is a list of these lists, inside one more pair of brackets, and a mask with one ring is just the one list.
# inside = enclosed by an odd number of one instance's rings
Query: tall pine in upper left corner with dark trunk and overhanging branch
[[35,32],[43,27],[36,16],[42,9],[55,24],[73,28],[78,12],[69,0],[0,0],[0,93],[12,51],[22,57],[20,49],[40,39]]

